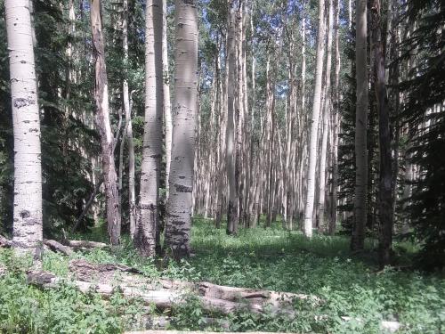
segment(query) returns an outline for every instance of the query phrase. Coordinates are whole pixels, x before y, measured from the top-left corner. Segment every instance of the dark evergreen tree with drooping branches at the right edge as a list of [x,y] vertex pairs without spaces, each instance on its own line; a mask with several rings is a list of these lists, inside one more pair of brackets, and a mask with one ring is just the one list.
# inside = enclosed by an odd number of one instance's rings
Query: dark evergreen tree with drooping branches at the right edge
[[419,264],[434,269],[445,266],[445,3],[411,0],[404,15],[416,29],[401,45],[402,59],[417,57],[401,83],[409,156],[418,167],[409,213],[422,243]]

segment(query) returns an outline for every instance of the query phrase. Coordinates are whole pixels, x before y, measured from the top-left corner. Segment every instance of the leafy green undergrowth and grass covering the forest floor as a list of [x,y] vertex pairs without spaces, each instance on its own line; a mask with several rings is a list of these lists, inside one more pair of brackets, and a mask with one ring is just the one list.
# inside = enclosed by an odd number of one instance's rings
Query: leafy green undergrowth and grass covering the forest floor
[[[77,238],[101,240],[103,229]],[[374,248],[368,240],[368,248]],[[65,257],[44,253],[44,270],[65,276],[69,260],[85,259],[105,264],[133,266],[149,277],[270,289],[315,295],[323,301],[295,302],[297,316],[251,314],[240,310],[229,315],[207,314],[193,296],[187,305],[168,314],[170,329],[231,331],[287,331],[299,333],[381,333],[382,321],[400,322],[403,333],[445,332],[445,279],[389,268],[376,269],[373,252],[353,257],[349,240],[343,236],[315,235],[306,240],[300,232],[271,228],[239,231],[228,237],[213,223],[195,219],[192,229],[194,256],[181,264],[163,260],[141,260],[128,240],[122,249],[110,253],[94,249]],[[396,244],[401,264],[409,260],[409,244]],[[0,249],[1,333],[120,333],[142,330],[147,315],[159,316],[137,300],[115,294],[104,300],[95,293],[82,294],[67,284],[58,289],[29,285],[25,271],[28,260]],[[167,315],[167,314],[164,314]],[[219,319],[208,322],[209,316]],[[348,317],[345,321],[344,317]]]

